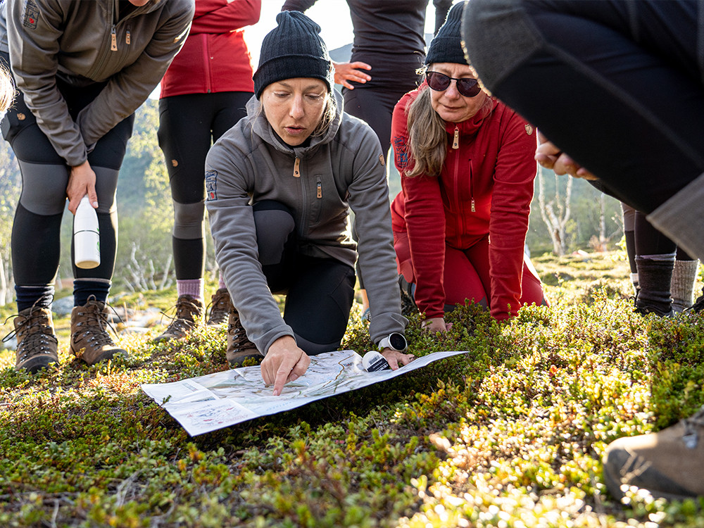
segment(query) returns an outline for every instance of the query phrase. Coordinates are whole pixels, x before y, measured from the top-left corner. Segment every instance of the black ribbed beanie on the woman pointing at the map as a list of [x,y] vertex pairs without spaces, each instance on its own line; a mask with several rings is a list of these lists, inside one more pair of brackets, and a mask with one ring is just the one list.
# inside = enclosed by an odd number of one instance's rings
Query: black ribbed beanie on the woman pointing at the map
[[325,81],[332,92],[332,61],[320,26],[299,11],[282,11],[276,21],[277,27],[264,37],[253,77],[257,99],[272,82],[295,77]]

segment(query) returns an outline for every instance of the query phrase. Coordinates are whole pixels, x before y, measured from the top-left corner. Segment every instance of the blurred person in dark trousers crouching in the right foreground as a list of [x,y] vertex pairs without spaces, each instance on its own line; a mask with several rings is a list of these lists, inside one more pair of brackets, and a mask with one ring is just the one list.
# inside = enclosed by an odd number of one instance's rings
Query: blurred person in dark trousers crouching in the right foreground
[[[703,2],[466,5],[467,56],[492,93],[540,127],[546,141],[536,160],[600,179],[704,258]],[[629,486],[670,499],[704,496],[703,474],[704,408],[660,432],[617,439],[604,458],[617,498]]]

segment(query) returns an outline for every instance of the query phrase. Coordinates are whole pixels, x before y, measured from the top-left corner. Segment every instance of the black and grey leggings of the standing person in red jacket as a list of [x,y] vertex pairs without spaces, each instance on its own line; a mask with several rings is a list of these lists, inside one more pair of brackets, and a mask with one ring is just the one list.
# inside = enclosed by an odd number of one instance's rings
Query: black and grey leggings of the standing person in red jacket
[[251,96],[250,92],[218,92],[159,101],[158,138],[174,206],[172,246],[177,279],[203,277],[206,155],[210,144],[246,115]]

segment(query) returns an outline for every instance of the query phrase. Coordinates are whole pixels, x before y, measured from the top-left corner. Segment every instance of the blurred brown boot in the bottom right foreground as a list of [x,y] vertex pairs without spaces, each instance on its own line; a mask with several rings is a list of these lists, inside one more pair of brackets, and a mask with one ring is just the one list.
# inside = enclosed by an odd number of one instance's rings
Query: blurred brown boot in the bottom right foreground
[[704,407],[662,431],[612,441],[604,455],[604,480],[612,496],[625,486],[655,497],[684,501],[704,496]]

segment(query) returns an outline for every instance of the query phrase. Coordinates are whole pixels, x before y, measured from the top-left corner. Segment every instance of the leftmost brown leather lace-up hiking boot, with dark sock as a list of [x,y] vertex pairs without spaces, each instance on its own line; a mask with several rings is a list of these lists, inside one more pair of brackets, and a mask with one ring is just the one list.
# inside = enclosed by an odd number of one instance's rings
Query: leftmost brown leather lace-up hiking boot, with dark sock
[[[50,308],[25,308],[15,317],[14,323],[17,336],[15,370],[25,369],[35,374],[50,363],[58,363],[58,341]],[[12,335],[8,334],[8,337]]]

